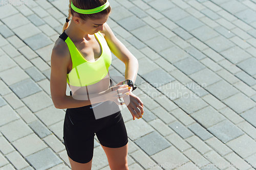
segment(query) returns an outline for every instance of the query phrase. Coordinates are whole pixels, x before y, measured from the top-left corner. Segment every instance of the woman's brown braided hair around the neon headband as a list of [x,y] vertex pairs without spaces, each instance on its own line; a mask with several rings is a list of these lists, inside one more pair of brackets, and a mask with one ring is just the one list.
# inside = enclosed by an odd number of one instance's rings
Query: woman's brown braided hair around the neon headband
[[[67,17],[68,19],[70,19],[71,16],[74,16],[74,13],[77,13],[71,8],[71,2],[73,2],[75,7],[79,9],[87,10],[87,9],[93,9],[93,8],[97,8],[104,5],[106,3],[106,0],[73,0],[73,1],[69,0],[69,16]],[[111,8],[109,6],[105,10],[95,14],[80,14],[80,13],[77,13],[77,14],[83,20],[87,20],[88,18],[99,19],[102,15],[109,14],[110,11],[111,11]],[[63,26],[62,32],[64,32],[68,27],[69,27],[69,22],[66,22]]]

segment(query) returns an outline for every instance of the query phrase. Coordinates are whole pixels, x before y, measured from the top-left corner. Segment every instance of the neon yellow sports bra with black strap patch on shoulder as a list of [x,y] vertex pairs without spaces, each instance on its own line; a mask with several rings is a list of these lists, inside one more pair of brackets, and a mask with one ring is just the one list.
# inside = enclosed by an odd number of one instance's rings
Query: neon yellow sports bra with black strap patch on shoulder
[[112,61],[110,48],[100,32],[94,35],[101,46],[101,56],[94,62],[89,62],[82,57],[65,31],[59,36],[69,47],[72,70],[67,74],[67,83],[72,86],[83,87],[95,84],[102,80],[109,72]]

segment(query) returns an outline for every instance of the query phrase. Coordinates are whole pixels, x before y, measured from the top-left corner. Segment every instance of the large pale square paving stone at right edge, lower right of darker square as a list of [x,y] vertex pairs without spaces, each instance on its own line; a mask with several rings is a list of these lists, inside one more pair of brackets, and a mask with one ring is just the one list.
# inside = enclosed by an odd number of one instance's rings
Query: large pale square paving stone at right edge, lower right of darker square
[[226,144],[243,159],[256,152],[256,142],[246,134],[239,136]]

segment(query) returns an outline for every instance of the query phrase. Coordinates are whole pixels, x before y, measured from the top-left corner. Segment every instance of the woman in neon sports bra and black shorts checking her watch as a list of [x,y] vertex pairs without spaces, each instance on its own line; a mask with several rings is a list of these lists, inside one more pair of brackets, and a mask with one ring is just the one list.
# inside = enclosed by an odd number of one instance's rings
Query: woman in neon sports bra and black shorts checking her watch
[[[56,108],[67,109],[63,139],[73,170],[91,169],[94,133],[110,168],[128,169],[128,138],[118,105],[126,103],[133,119],[144,112],[143,103],[132,93],[138,60],[106,24],[110,11],[107,0],[70,1],[63,33],[52,50],[51,95]],[[109,75],[111,51],[125,63],[125,81],[117,85]],[[71,96],[66,95],[66,82]]]

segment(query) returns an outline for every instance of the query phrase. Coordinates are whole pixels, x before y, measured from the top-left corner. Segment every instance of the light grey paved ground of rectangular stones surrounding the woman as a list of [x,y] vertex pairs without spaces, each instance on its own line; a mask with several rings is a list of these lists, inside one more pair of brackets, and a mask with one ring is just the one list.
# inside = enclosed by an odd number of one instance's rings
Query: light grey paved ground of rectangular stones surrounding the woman
[[[109,1],[107,22],[139,61],[134,93],[145,106],[142,119],[122,110],[129,168],[236,169],[232,163],[252,170],[256,1]],[[2,2],[0,170],[70,169],[62,143],[65,109],[54,107],[49,81],[69,1]],[[110,75],[124,71],[113,56]],[[92,169],[110,169],[96,136],[94,142]]]

